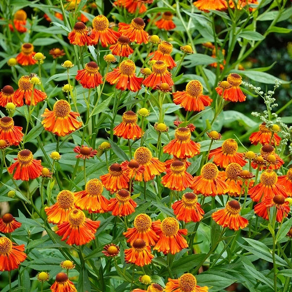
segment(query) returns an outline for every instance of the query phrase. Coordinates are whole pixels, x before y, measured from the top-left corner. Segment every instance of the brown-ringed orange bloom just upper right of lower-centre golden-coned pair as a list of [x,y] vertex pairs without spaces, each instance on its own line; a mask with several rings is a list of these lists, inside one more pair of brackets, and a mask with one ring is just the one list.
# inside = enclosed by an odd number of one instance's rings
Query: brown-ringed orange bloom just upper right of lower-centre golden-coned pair
[[198,222],[203,218],[205,212],[198,203],[198,197],[194,193],[185,193],[180,201],[172,204],[174,215],[178,220],[184,222]]

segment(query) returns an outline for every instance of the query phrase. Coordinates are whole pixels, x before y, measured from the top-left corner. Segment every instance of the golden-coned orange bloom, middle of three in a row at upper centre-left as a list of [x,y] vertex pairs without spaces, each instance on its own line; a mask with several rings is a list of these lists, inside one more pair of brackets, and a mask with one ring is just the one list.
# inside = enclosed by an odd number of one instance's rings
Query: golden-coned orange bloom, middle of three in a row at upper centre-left
[[136,76],[136,66],[132,60],[124,60],[120,66],[107,74],[107,81],[116,84],[116,89],[136,92],[141,89],[143,78]]

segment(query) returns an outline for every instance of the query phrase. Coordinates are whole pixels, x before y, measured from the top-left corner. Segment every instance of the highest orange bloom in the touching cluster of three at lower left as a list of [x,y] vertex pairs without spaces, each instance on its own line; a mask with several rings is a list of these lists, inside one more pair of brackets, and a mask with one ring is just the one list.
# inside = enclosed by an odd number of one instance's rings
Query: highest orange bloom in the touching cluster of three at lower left
[[75,206],[89,213],[105,213],[109,200],[102,195],[103,185],[100,180],[92,179],[85,185],[85,190],[74,193]]

